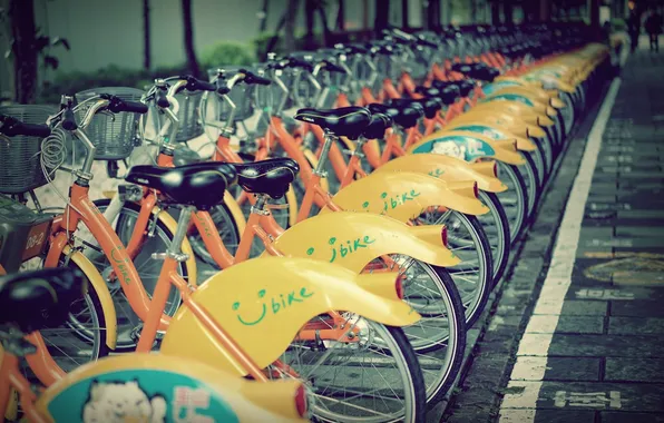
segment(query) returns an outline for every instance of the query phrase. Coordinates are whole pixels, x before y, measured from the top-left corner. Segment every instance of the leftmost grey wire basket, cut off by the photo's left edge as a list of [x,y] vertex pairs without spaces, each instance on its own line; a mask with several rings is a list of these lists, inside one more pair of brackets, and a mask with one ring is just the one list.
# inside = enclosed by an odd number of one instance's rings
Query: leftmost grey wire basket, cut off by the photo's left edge
[[[43,125],[58,111],[49,106],[2,106],[0,115],[9,115],[23,124]],[[41,169],[42,138],[0,137],[0,193],[21,194],[48,183]],[[48,169],[49,171],[51,169]]]

